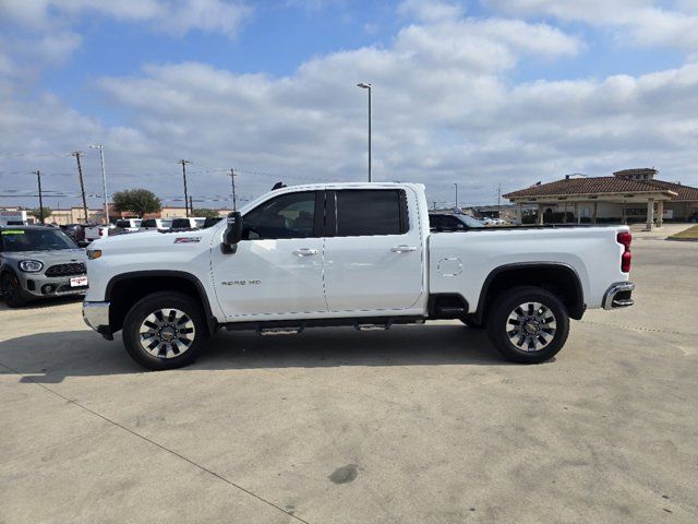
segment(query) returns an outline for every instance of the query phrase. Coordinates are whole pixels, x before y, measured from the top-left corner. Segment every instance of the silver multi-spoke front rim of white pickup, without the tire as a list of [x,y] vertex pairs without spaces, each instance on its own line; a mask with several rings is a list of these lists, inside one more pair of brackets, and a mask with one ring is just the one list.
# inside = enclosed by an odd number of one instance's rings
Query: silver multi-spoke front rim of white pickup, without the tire
[[139,330],[141,346],[154,357],[173,358],[194,342],[194,322],[179,309],[159,309],[148,314]]

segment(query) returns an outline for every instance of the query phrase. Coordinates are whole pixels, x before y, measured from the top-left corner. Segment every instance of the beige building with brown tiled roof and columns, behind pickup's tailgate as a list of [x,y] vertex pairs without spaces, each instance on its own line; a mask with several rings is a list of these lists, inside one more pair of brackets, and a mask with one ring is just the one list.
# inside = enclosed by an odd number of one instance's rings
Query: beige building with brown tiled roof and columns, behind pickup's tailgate
[[555,213],[581,222],[645,222],[648,228],[664,219],[686,221],[698,212],[698,188],[654,178],[657,169],[625,169],[613,177],[567,176],[550,183],[504,195],[516,204],[535,205],[539,224]]

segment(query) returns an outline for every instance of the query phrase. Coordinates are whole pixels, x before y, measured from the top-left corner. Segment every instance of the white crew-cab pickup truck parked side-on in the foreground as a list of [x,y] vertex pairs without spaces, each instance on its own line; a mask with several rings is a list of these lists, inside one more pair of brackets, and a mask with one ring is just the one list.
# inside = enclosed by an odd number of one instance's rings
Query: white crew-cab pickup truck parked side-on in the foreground
[[[288,187],[209,229],[124,235],[88,252],[85,322],[149,369],[218,329],[387,330],[459,319],[517,362],[557,354],[569,318],[633,305],[627,227],[431,233],[416,183]],[[429,348],[424,348],[429,350]]]

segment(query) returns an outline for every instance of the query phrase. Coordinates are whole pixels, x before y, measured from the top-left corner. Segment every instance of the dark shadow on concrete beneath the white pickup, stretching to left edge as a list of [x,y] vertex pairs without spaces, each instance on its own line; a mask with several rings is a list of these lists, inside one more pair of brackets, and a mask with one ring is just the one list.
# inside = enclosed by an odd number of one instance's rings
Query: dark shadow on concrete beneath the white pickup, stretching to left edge
[[[512,366],[482,330],[428,324],[369,333],[324,327],[288,336],[221,332],[208,341],[195,364],[177,372],[453,365]],[[2,373],[22,376],[21,382],[39,383],[60,383],[68,377],[146,372],[131,360],[119,335],[115,342],[107,342],[89,331],[40,333],[0,342],[0,366]]]

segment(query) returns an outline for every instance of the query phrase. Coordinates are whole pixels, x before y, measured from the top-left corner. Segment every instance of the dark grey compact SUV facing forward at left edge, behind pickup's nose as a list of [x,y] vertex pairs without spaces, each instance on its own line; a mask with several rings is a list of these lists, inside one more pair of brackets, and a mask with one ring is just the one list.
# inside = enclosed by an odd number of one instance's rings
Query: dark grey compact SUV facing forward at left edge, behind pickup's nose
[[60,229],[0,226],[0,290],[11,308],[87,290],[85,250]]

